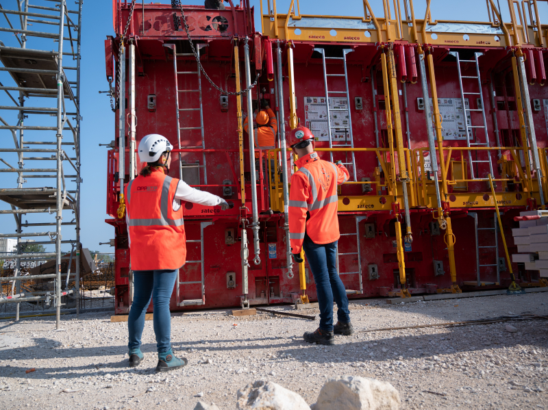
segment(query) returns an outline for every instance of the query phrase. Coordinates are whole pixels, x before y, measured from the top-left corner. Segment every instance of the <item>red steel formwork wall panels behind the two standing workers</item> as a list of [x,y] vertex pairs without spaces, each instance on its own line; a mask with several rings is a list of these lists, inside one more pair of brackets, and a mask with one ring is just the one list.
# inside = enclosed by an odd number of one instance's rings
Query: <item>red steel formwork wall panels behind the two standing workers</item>
[[[185,6],[186,7],[186,6]],[[115,14],[119,13],[116,11]],[[218,27],[212,29],[197,28],[192,31],[193,38],[197,38],[207,47],[201,48],[201,63],[210,78],[215,84],[228,90],[236,90],[234,75],[234,42],[232,37],[240,39],[240,71],[244,78],[243,65],[243,47],[242,38],[253,37],[251,10],[236,7],[232,10],[219,12],[225,16],[231,23],[228,33],[219,31]],[[126,14],[124,14],[126,13]],[[127,18],[127,8],[121,7],[121,14]],[[210,16],[210,10],[191,7],[188,15],[193,17],[192,21],[206,21]],[[236,14],[237,24],[234,25],[234,14]],[[116,14],[118,15],[118,14]],[[171,19],[168,18],[171,16]],[[206,16],[206,17],[204,17]],[[125,18],[121,20],[125,21]],[[151,21],[166,20],[166,27],[160,25],[155,28],[147,25],[148,19]],[[232,18],[232,20],[231,20]],[[246,20],[247,18],[247,20]],[[204,20],[205,19],[205,20]],[[141,22],[141,26],[139,23]],[[163,24],[163,23],[162,23]],[[223,183],[230,181],[232,185],[232,196],[227,197],[227,201],[234,203],[234,208],[227,211],[203,207],[191,203],[184,204],[184,218],[186,237],[188,240],[200,239],[201,222],[212,222],[203,230],[203,251],[204,264],[203,274],[205,278],[205,305],[201,307],[234,307],[240,305],[240,296],[242,296],[242,261],[241,251],[241,222],[251,219],[251,185],[249,184],[249,152],[247,144],[247,134],[244,133],[245,161],[243,164],[246,179],[246,201],[242,204],[240,198],[240,157],[238,151],[238,121],[237,121],[237,100],[233,95],[228,97],[228,108],[221,107],[220,93],[211,86],[207,79],[202,75],[201,88],[203,91],[203,124],[204,124],[204,142],[206,150],[192,149],[189,147],[201,145],[201,133],[199,130],[185,131],[181,136],[181,144],[177,141],[177,120],[175,117],[175,74],[173,68],[174,47],[177,53],[189,53],[188,40],[184,32],[177,33],[173,31],[173,10],[166,5],[147,5],[145,9],[145,33],[138,34],[136,37],[137,48],[137,66],[138,75],[136,76],[136,117],[138,125],[136,130],[137,143],[148,133],[160,133],[168,138],[175,146],[174,161],[172,162],[169,175],[179,177],[178,159],[185,164],[195,164],[203,162],[206,157],[207,168],[194,168],[190,172],[185,170],[184,179],[190,185],[201,190],[207,190],[213,194],[223,195]],[[137,35],[138,30],[142,29],[142,14],[134,16],[134,23],[131,25],[132,32]],[[138,28],[140,27],[140,28]],[[171,27],[171,29],[169,28]],[[171,31],[170,31],[171,30]],[[201,30],[201,31],[200,31]],[[227,29],[225,29],[226,31]],[[283,66],[283,86],[284,86],[284,105],[286,112],[279,112],[275,107],[275,98],[273,90],[273,81],[271,71],[276,67],[276,53],[274,52],[274,67],[270,62],[270,52],[264,47],[276,47],[275,43],[269,42],[268,38],[256,36],[256,41],[250,42],[251,49],[251,70],[252,77],[255,76],[255,68],[260,68],[262,76],[260,77],[258,88],[253,89],[253,99],[258,98],[258,94],[265,93],[264,96],[270,99],[271,106],[279,115],[279,125],[290,131],[289,126],[289,106],[288,101],[288,65],[286,44],[282,44]],[[114,50],[117,49],[119,38],[113,40]],[[164,47],[168,45],[169,47]],[[401,121],[403,127],[404,145],[407,147],[406,120],[404,113],[407,112],[410,129],[410,149],[423,149],[428,146],[427,140],[427,121],[425,120],[424,110],[419,109],[418,99],[423,98],[423,92],[420,84],[420,71],[416,65],[419,62],[416,55],[416,47],[409,47],[409,44],[400,42],[396,44],[396,61],[398,64],[398,75],[403,79],[406,76],[406,94],[408,108],[404,107],[402,84],[399,83],[399,106],[401,107]],[[263,47],[263,49],[260,49]],[[382,70],[379,62],[378,44],[313,44],[307,42],[295,42],[292,44],[294,55],[294,75],[295,75],[295,95],[297,99],[297,117],[301,123],[306,124],[307,113],[305,112],[305,97],[325,97],[325,83],[323,77],[323,66],[321,64],[321,55],[314,53],[314,47],[323,47],[328,56],[340,57],[344,48],[351,48],[353,51],[347,55],[347,73],[349,83],[349,106],[351,121],[353,125],[353,139],[356,148],[375,148],[375,116],[379,131],[379,145],[388,146],[387,124],[386,124],[386,104],[384,101],[384,87],[382,81]],[[274,51],[276,51],[274,49]],[[473,53],[484,53],[479,57],[479,66],[482,68],[481,81],[482,92],[484,95],[484,105],[486,112],[486,124],[489,143],[491,146],[497,146],[495,126],[493,122],[493,111],[497,118],[499,139],[502,146],[519,146],[519,118],[516,107],[516,99],[513,89],[513,76],[510,57],[511,51],[506,49],[471,49],[436,47],[432,49],[432,58],[434,61],[434,72],[436,75],[436,88],[438,99],[460,99],[460,88],[458,85],[458,71],[454,57],[449,51],[459,51],[461,59],[471,60]],[[534,129],[538,146],[544,148],[548,137],[547,120],[545,119],[545,107],[543,99],[547,96],[545,89],[540,86],[543,81],[543,69],[540,69],[540,60],[543,59],[543,51],[534,49],[536,84],[530,85],[530,98],[540,100],[540,110],[533,112]],[[261,58],[266,61],[260,65]],[[343,65],[340,60],[327,64],[329,73],[344,73]],[[258,64],[255,66],[255,64]],[[405,71],[403,68],[405,64]],[[178,57],[178,71],[196,71],[197,64],[192,55]],[[475,66],[462,65],[462,75],[475,75]],[[532,73],[532,71],[530,71]],[[417,80],[417,76],[419,81]],[[430,84],[431,79],[427,79]],[[532,78],[530,79],[532,80]],[[330,77],[330,90],[344,90],[345,84],[343,77]],[[493,86],[490,83],[493,81]],[[243,82],[243,80],[242,80]],[[531,81],[533,82],[533,81]],[[196,75],[178,77],[179,90],[195,90],[199,86]],[[243,86],[243,84],[242,84]],[[465,84],[464,92],[477,88],[477,84]],[[376,90],[373,94],[373,87]],[[495,104],[491,102],[492,92]],[[196,107],[198,104],[196,97],[191,97],[190,93],[179,97],[179,106]],[[148,101],[151,96],[155,97],[154,110],[149,109]],[[355,97],[361,97],[362,109],[356,109],[354,104]],[[243,107],[246,107],[245,97],[242,99]],[[548,101],[547,101],[548,103]],[[375,107],[374,107],[375,105]],[[470,107],[477,108],[475,98],[470,99]],[[222,108],[222,109],[221,109]],[[245,111],[245,109],[244,109]],[[199,117],[181,112],[180,124],[182,127],[199,127]],[[472,112],[472,123],[481,123],[481,113]],[[118,135],[118,122],[116,121],[115,132]],[[477,138],[485,140],[484,131],[477,130]],[[464,140],[444,140],[444,146],[466,146]],[[317,147],[327,147],[327,142],[317,142]],[[416,151],[419,153],[419,151]],[[416,155],[414,153],[413,155]],[[130,248],[127,243],[127,228],[125,220],[118,219],[116,210],[119,206],[119,182],[116,177],[118,170],[118,149],[108,153],[108,204],[107,213],[112,219],[107,222],[116,229],[116,313],[127,313],[131,300],[131,289],[129,284],[129,253]],[[126,150],[125,174],[129,178],[129,152]],[[329,153],[320,153],[321,157],[330,159]],[[436,153],[436,155],[438,155]],[[453,152],[453,159],[459,159],[460,154]],[[349,162],[344,153],[334,153],[334,160],[343,159],[343,162]],[[379,164],[377,157],[373,152],[356,153],[356,174],[357,180],[362,177],[375,179],[375,173]],[[142,168],[138,157],[136,160],[136,171]],[[493,153],[493,170],[496,178],[501,177],[501,167],[497,164],[497,153]],[[484,176],[488,172],[486,164],[477,166],[477,175]],[[206,183],[207,176],[207,183]],[[384,175],[381,176],[384,180]],[[415,176],[416,177],[416,176]],[[340,195],[342,196],[373,196],[379,201],[386,201],[386,190],[378,190],[375,185],[371,192],[362,192],[360,185],[343,185]],[[500,190],[500,188],[497,188]],[[523,201],[519,190],[516,190],[516,199],[509,200],[508,203],[501,203],[502,222],[504,235],[508,242],[510,253],[516,252],[512,239],[511,229],[517,226],[513,217],[523,211]],[[299,272],[297,266],[294,266],[292,275],[288,274],[286,266],[286,238],[283,229],[284,216],[279,212],[269,210],[269,192],[268,188],[261,182],[257,185],[258,191],[258,210],[260,212],[260,264],[253,264],[253,246],[251,238],[253,233],[247,229],[247,238],[249,240],[249,294],[248,298],[253,305],[269,303],[292,303],[301,292],[299,281]],[[456,193],[456,187],[449,186],[449,194]],[[458,191],[462,193],[461,191]],[[484,181],[470,182],[465,192],[469,192],[471,197],[477,192],[489,192],[489,188]],[[465,281],[477,280],[477,257],[479,264],[488,265],[498,263],[500,257],[504,257],[504,250],[499,237],[499,247],[481,248],[479,255],[476,254],[478,245],[494,246],[495,237],[493,228],[496,223],[495,209],[492,207],[477,207],[459,200],[456,195],[450,195],[447,198],[451,209],[451,220],[453,221],[453,233],[456,237],[455,257],[457,283],[462,285]],[[472,213],[477,214],[478,238],[475,238],[474,218]],[[359,217],[356,225],[356,217]],[[397,263],[395,219],[390,212],[390,207],[382,211],[372,211],[369,209],[360,209],[356,212],[339,212],[341,233],[353,234],[358,229],[360,236],[359,253],[356,237],[353,235],[343,235],[339,240],[340,253],[338,270],[341,279],[347,290],[358,290],[360,288],[360,277],[362,280],[363,293],[351,297],[364,296],[386,296],[388,292],[397,290],[399,287],[399,271]],[[439,233],[431,222],[434,221],[432,209],[415,206],[410,211],[411,228],[413,233],[413,242],[406,246],[406,277],[407,286],[411,293],[424,294],[435,293],[451,285],[449,274],[449,255],[447,253],[447,244],[444,241],[444,231]],[[248,221],[249,222],[249,221]],[[373,235],[367,235],[366,231],[373,230]],[[227,231],[234,235],[234,242],[225,240]],[[177,252],[177,250],[173,250]],[[201,259],[201,247],[199,243],[189,242],[187,244],[187,259],[196,261]],[[358,264],[358,254],[360,263]],[[434,262],[436,266],[434,267]],[[361,266],[359,274],[345,274],[345,272],[356,272]],[[520,266],[512,264],[514,272],[520,272]],[[373,274],[370,274],[370,270]],[[376,272],[376,274],[375,274]],[[520,272],[521,273],[521,272]],[[201,278],[200,264],[187,264],[179,270],[180,281],[199,281]],[[306,294],[311,300],[316,298],[316,287],[312,278],[312,273],[306,265]],[[510,274],[508,267],[501,270],[497,277],[497,269],[494,266],[482,268],[481,279],[486,282],[499,282],[504,285],[508,282]],[[528,272],[521,276],[523,280],[538,279],[530,277]],[[228,282],[234,281],[234,284],[228,285]],[[174,290],[171,300],[171,308],[192,309],[195,307],[180,307],[178,303],[181,300],[201,298],[200,285],[179,285],[179,289]]]

